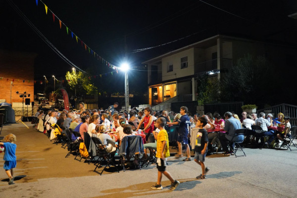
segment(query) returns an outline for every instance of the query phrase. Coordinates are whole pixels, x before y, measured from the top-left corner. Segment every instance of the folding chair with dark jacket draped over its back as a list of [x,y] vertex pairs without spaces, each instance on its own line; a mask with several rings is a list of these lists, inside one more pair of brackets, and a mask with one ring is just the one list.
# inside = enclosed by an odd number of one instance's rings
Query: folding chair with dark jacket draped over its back
[[[125,157],[140,158],[140,154],[144,153],[144,145],[142,137],[139,135],[128,135],[122,139],[121,147],[119,150],[120,161],[125,171]],[[138,160],[139,169],[141,170],[140,159]]]

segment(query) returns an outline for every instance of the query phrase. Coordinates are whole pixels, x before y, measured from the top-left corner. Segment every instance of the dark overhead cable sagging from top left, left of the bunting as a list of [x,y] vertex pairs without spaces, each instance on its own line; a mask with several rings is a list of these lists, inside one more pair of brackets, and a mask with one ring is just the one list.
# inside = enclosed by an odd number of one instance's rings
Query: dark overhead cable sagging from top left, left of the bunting
[[68,58],[66,58],[37,28],[36,26],[27,18],[27,16],[17,7],[17,5],[11,0],[6,0],[9,5],[18,13],[18,15],[29,25],[29,27],[67,64],[76,68],[84,74],[87,74],[84,70],[80,69],[74,63],[72,63]]

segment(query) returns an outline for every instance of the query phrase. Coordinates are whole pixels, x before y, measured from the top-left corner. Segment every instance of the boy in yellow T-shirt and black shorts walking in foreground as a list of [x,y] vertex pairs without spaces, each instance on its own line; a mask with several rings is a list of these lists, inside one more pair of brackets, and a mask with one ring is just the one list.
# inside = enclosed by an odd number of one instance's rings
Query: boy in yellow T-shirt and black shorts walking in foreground
[[173,191],[179,185],[179,181],[174,180],[171,174],[168,171],[166,171],[166,161],[167,161],[167,158],[170,156],[170,153],[169,153],[168,134],[167,134],[167,131],[164,129],[165,125],[166,125],[166,119],[164,118],[158,118],[155,123],[155,127],[157,127],[160,130],[157,135],[156,133],[153,133],[155,136],[155,139],[157,140],[156,157],[157,157],[158,180],[155,185],[151,186],[151,188],[158,189],[158,190],[163,189],[161,185],[161,180],[162,180],[162,174],[164,174],[171,181],[170,190]]

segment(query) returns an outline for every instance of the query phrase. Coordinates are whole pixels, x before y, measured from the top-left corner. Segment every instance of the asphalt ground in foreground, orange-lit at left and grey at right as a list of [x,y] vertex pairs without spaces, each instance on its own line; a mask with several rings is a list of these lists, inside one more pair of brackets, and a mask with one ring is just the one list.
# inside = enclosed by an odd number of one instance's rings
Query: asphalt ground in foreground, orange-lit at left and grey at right
[[73,156],[65,158],[67,149],[52,144],[30,122],[5,125],[0,136],[8,133],[17,137],[17,166],[13,185],[8,185],[1,168],[1,198],[297,197],[297,151],[245,148],[247,157],[238,158],[213,154],[205,159],[210,171],[203,180],[196,179],[201,168],[194,158],[182,161],[169,157],[167,170],[180,185],[170,191],[170,181],[163,176],[164,189],[153,190],[150,186],[157,180],[155,164],[119,173],[111,169],[99,175],[92,163],[79,162]]

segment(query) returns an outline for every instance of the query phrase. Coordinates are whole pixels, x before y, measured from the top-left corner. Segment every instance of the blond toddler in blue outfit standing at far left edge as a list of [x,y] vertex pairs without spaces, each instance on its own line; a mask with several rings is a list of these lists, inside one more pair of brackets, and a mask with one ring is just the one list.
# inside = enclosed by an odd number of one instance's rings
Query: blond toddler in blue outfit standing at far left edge
[[5,148],[3,160],[5,169],[5,172],[9,178],[8,184],[13,184],[13,168],[16,166],[16,156],[15,156],[15,150],[16,150],[16,144],[14,142],[16,141],[16,137],[13,134],[8,134],[4,137],[5,142],[0,142],[0,146],[3,146]]

